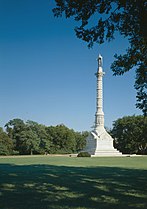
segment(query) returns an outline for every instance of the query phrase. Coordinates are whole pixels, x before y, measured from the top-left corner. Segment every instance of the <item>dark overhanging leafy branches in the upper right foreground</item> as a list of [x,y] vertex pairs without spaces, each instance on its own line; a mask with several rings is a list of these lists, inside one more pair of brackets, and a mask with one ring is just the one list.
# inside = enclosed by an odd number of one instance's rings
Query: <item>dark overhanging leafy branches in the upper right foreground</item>
[[[111,41],[115,32],[128,38],[130,46],[123,55],[115,54],[111,65],[114,75],[136,70],[136,106],[147,115],[147,2],[146,0],[55,0],[56,17],[65,14],[80,24],[75,28],[78,38],[102,44]],[[94,17],[95,21],[91,21]]]

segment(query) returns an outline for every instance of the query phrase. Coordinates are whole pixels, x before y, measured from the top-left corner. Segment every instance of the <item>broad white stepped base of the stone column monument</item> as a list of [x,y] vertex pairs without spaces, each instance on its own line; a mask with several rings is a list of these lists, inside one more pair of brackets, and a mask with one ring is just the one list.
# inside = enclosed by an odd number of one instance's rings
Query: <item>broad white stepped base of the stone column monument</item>
[[122,153],[113,147],[113,138],[104,127],[98,127],[87,137],[85,152],[92,156],[121,156]]

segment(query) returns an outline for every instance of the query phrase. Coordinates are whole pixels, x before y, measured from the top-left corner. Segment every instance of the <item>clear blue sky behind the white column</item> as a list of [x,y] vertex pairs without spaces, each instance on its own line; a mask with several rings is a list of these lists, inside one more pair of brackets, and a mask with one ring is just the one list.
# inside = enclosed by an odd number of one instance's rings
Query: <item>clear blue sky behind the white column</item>
[[105,126],[139,115],[135,72],[113,76],[114,54],[128,41],[88,49],[74,19],[54,18],[53,0],[0,0],[0,127],[14,118],[89,131],[96,111],[97,57],[103,56]]

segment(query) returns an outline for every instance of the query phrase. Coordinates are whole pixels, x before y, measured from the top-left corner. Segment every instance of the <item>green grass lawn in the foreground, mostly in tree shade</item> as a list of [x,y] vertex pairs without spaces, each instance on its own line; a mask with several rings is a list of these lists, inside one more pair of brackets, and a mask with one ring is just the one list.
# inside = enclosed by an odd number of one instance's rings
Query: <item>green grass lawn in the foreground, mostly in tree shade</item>
[[147,209],[147,156],[0,158],[0,209]]

